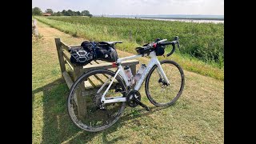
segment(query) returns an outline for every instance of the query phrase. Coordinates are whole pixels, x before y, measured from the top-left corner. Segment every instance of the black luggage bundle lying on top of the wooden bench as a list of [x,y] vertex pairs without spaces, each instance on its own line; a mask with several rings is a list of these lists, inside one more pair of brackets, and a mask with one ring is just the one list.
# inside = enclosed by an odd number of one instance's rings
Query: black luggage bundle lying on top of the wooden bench
[[85,66],[93,60],[115,62],[118,59],[114,45],[110,46],[106,42],[84,41],[79,48],[70,49],[70,62],[78,66]]

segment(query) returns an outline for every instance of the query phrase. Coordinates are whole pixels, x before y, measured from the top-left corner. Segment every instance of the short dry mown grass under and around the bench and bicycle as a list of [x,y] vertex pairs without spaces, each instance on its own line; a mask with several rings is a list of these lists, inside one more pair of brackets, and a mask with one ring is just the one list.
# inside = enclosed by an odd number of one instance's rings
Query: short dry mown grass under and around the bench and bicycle
[[[42,21],[62,31],[66,28],[66,33],[70,33],[70,27],[83,26],[50,19]],[[98,133],[79,130],[66,111],[69,89],[61,76],[54,38],[77,45],[87,37],[74,38],[72,33],[65,34],[42,22],[38,22],[38,31],[41,38],[32,39],[32,143],[224,143],[223,81],[188,70],[184,70],[184,91],[174,106],[156,108],[147,100],[142,86],[142,102],[152,111],[127,106],[120,120],[109,129]],[[77,36],[82,36],[83,32],[78,30]],[[121,58],[132,55],[120,49]],[[183,66],[188,63],[180,55],[172,58],[180,59],[177,62],[183,62]],[[149,61],[148,58],[139,60]],[[204,66],[197,62],[189,61],[195,66]]]

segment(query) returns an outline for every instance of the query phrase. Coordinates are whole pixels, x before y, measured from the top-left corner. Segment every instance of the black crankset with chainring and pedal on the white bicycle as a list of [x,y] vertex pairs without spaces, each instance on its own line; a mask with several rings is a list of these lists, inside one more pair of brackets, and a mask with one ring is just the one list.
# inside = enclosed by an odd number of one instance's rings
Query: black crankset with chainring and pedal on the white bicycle
[[138,90],[130,90],[130,92],[126,95],[126,100],[130,107],[139,105],[144,107],[147,111],[150,111],[148,106],[141,102],[141,94],[138,92]]

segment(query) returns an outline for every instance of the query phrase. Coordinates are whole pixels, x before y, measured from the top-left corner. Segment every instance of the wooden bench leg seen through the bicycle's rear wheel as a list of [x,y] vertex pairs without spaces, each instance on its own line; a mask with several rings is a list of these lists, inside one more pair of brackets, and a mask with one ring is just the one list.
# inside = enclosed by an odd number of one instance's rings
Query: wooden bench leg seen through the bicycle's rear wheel
[[[82,66],[74,66],[74,81],[76,81],[82,75]],[[86,116],[86,98],[83,93],[85,92],[85,84],[82,82],[78,89],[75,91],[77,96],[78,105],[78,117],[85,118]]]

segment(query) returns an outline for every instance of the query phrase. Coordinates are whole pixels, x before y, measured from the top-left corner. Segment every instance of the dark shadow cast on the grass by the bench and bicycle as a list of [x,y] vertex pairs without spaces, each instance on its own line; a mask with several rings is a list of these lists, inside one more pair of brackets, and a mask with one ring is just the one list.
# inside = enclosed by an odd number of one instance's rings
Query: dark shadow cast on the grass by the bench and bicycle
[[[155,111],[161,109],[153,106],[151,107],[150,112],[143,112],[145,111],[144,109],[138,110],[138,112],[142,112],[142,114],[137,116],[134,116],[132,113],[123,114],[114,126],[111,126],[107,130],[90,133],[80,130],[71,122],[66,110],[66,98],[69,93],[69,89],[62,78],[59,78],[46,86],[33,90],[32,103],[34,103],[34,94],[38,92],[43,93],[43,128],[42,142],[40,143],[86,143],[91,142],[91,140],[97,135],[100,136],[100,139],[96,140],[97,142],[114,143],[126,137],[120,134],[118,137],[110,138],[108,135],[118,130],[118,127],[122,127],[124,122],[130,119],[153,114]],[[32,117],[33,116],[34,114],[32,114]],[[40,120],[38,119],[38,121]]]

